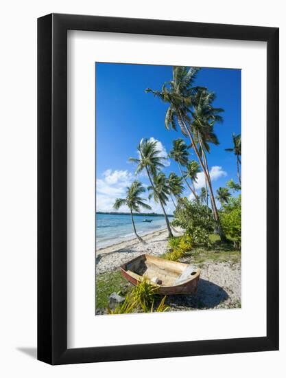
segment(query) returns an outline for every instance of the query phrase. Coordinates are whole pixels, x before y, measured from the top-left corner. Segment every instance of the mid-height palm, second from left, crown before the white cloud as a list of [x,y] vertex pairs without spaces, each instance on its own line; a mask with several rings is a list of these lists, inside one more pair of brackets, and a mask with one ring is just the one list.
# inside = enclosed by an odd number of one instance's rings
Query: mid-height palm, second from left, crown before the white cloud
[[[154,192],[156,192],[153,179],[154,177],[156,177],[158,169],[163,168],[164,166],[163,161],[167,158],[160,156],[160,150],[158,150],[157,148],[156,140],[154,141],[147,140],[147,139],[141,140],[139,146],[137,147],[137,150],[139,152],[139,159],[130,157],[129,161],[137,164],[137,168],[135,171],[136,175],[138,173],[141,173],[143,170],[145,170],[145,172],[147,173],[148,179],[150,181],[150,184],[152,188],[154,189]],[[171,232],[171,227],[169,224],[169,219],[165,212],[164,202],[162,201],[160,195],[157,194],[157,197],[158,197],[158,202],[160,203],[160,206],[162,208],[163,214],[165,216],[165,222],[167,225],[169,237],[173,237],[173,234]]]

